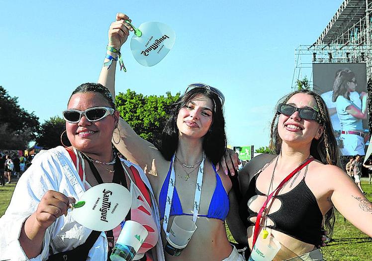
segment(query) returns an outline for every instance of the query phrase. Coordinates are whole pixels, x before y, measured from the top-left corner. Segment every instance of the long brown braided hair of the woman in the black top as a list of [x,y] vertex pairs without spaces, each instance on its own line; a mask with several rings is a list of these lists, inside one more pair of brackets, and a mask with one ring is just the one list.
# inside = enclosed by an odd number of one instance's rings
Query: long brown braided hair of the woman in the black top
[[[317,107],[319,108],[319,117],[317,119],[317,122],[323,126],[324,131],[319,139],[313,139],[310,145],[310,154],[323,164],[331,164],[336,165],[340,168],[343,168],[340,161],[339,156],[339,149],[337,145],[337,140],[335,137],[335,134],[333,133],[333,128],[331,124],[331,120],[328,114],[327,106],[323,99],[320,97],[319,94],[309,91],[309,90],[298,90],[295,92],[291,92],[288,95],[281,98],[278,102],[280,103],[286,103],[290,97],[292,97],[295,94],[308,94],[311,95],[315,102]],[[270,148],[272,151],[274,151],[276,154],[280,153],[281,150],[281,143],[282,140],[279,136],[278,132],[278,115],[279,113],[276,113],[274,116],[274,119],[271,124],[271,136],[270,136]],[[332,207],[326,214],[325,214],[325,228],[328,232],[328,237],[332,237],[333,234],[333,226],[335,224],[335,214],[334,214],[334,207]]]

